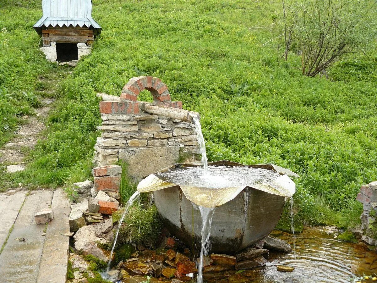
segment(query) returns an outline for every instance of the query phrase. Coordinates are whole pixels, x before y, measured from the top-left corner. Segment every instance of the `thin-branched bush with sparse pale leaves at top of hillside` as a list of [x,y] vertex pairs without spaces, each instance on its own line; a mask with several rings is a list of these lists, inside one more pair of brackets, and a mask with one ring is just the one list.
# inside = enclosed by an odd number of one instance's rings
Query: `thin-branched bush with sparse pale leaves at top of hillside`
[[282,0],[287,60],[293,40],[301,47],[302,74],[308,77],[349,54],[365,52],[377,29],[377,1]]

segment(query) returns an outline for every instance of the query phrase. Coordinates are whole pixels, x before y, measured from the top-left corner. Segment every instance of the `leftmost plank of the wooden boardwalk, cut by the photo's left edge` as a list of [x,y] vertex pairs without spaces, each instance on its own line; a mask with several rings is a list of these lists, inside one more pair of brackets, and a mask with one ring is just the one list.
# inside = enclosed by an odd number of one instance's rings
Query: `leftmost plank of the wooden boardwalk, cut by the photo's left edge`
[[17,192],[14,195],[0,195],[0,247],[3,245],[9,230],[16,221],[18,211],[25,200],[26,192]]

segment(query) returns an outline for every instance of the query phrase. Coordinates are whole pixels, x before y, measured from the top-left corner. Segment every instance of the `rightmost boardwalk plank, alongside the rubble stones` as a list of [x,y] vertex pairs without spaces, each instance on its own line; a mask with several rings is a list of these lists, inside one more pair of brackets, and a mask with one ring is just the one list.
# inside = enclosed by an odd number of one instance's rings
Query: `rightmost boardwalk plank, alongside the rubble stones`
[[69,205],[70,201],[63,189],[54,191],[51,205],[54,219],[47,228],[37,282],[49,282],[51,275],[54,282],[66,281],[69,237],[64,234],[69,233]]

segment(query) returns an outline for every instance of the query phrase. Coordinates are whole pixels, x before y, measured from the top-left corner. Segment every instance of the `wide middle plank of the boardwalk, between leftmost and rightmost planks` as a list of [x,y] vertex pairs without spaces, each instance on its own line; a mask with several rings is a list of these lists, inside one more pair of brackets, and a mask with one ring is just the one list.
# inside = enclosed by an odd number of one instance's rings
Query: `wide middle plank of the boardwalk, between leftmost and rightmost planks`
[[[26,197],[5,248],[0,254],[2,282],[36,282],[43,250],[45,225],[37,225],[34,214],[51,205],[52,191]],[[15,240],[25,238],[25,241]]]

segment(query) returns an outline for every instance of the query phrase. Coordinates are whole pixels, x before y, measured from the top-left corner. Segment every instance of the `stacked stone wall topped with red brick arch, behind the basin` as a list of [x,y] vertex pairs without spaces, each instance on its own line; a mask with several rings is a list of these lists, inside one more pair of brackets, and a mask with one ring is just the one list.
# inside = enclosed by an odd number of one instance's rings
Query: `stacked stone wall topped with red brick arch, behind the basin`
[[[160,107],[159,115],[139,109],[140,91],[148,89],[153,105]],[[166,107],[181,108],[181,102],[171,102],[167,86],[158,78],[132,78],[124,86],[121,101],[101,101],[102,131],[95,145],[95,162],[99,166],[112,165],[123,160],[129,174],[145,177],[175,163],[180,152],[198,154],[195,125],[164,115]],[[147,103],[144,103],[147,104]]]

